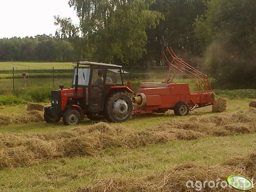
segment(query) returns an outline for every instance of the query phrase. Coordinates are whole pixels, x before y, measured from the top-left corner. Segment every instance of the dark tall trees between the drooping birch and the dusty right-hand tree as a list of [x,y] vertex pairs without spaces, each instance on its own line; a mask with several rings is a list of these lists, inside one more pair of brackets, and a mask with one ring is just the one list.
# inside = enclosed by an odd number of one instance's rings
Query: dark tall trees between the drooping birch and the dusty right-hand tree
[[151,60],[155,60],[157,65],[162,63],[165,66],[163,52],[168,45],[181,57],[190,59],[190,64],[193,63],[191,58],[201,53],[193,24],[196,16],[203,14],[206,8],[203,0],[157,0],[156,4],[151,5],[151,10],[165,16],[156,29],[147,30],[147,52]]

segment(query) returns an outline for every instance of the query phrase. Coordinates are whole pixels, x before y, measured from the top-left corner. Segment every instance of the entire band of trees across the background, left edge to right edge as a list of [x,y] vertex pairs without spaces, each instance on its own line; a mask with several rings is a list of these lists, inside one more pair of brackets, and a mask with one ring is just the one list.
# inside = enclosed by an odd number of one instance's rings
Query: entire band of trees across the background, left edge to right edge
[[252,0],[70,0],[80,25],[55,16],[55,36],[0,39],[0,61],[90,60],[166,66],[177,55],[225,88],[256,88]]

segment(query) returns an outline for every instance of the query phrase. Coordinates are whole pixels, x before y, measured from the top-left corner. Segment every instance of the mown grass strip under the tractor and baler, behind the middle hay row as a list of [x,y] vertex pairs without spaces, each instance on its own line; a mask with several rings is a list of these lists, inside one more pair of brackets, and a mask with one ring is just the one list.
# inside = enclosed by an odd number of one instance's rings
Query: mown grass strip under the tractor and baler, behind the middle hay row
[[[249,106],[250,99],[229,99],[228,100],[228,109],[224,113],[230,113],[233,111],[237,111],[240,109],[246,109]],[[44,105],[50,105],[50,103],[42,103]],[[19,104],[19,105],[7,105],[7,106],[0,106],[0,115],[10,114],[22,114],[26,110],[26,104]],[[191,111],[189,115],[205,115],[211,114],[211,106],[197,109]],[[144,129],[149,126],[154,126],[159,122],[170,121],[172,119],[185,119],[187,117],[176,117],[173,111],[168,111],[165,114],[137,114],[134,115],[132,120],[123,122],[120,125],[124,125],[127,127],[133,127],[134,129],[140,130]],[[105,121],[106,122],[106,121]],[[82,121],[82,125],[90,125],[92,122],[89,119],[85,119]],[[72,126],[64,126],[63,122],[59,122],[57,124],[48,124],[46,122],[39,122],[39,123],[31,123],[31,124],[21,124],[21,125],[8,125],[8,126],[1,126],[0,132],[17,132],[17,133],[30,133],[30,132],[48,132],[48,131],[57,131],[57,130],[67,130],[70,129]],[[75,126],[73,126],[75,127]]]

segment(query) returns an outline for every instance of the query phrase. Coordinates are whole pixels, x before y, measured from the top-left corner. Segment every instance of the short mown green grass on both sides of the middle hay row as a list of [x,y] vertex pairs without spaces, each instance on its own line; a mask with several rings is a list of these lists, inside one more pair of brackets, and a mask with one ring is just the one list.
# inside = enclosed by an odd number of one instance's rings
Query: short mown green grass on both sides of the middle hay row
[[[246,98],[228,99],[228,110],[223,114],[246,109],[249,101],[250,99]],[[0,115],[22,114],[25,110],[26,105],[2,106]],[[197,116],[208,114],[211,114],[211,107],[190,113]],[[132,120],[121,123],[120,126],[143,130],[161,122],[185,118],[188,117],[177,118],[172,111],[165,114],[134,115]],[[90,126],[91,123],[86,119],[81,126]],[[36,134],[68,130],[72,127],[76,126],[63,126],[62,122],[57,124],[40,122],[1,126],[0,132]],[[168,172],[174,166],[184,163],[198,166],[221,165],[226,159],[251,153],[256,143],[255,136],[255,133],[208,136],[195,140],[145,145],[134,149],[110,147],[93,156],[65,157],[20,168],[6,167],[0,170],[0,189],[1,191],[77,191],[105,179],[120,177],[143,179],[146,176]]]

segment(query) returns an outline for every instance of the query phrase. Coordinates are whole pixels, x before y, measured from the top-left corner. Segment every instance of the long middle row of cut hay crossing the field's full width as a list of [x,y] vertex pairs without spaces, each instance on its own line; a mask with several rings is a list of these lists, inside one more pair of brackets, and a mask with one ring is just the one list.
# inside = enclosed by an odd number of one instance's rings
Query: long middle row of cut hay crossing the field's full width
[[[20,121],[26,120],[27,118]],[[177,140],[255,132],[256,108],[249,108],[231,114],[204,115],[197,118],[191,116],[145,130],[100,122],[66,131],[5,133],[0,134],[0,167],[24,166],[62,157],[95,155],[105,148],[136,148]]]

